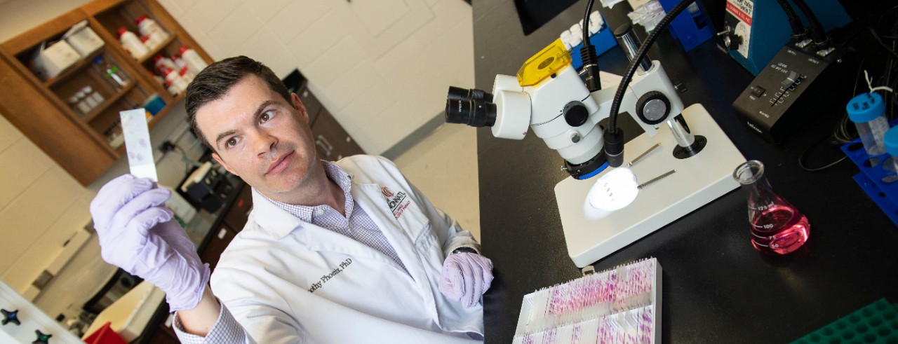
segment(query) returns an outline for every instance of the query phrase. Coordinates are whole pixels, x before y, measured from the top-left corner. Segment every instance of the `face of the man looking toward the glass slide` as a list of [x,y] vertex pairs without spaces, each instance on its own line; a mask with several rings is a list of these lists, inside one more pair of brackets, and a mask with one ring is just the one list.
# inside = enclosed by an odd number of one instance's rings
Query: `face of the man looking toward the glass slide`
[[295,93],[291,100],[249,75],[196,115],[200,132],[215,147],[213,158],[276,200],[284,198],[278,193],[309,184],[309,172],[320,163],[305,107]]

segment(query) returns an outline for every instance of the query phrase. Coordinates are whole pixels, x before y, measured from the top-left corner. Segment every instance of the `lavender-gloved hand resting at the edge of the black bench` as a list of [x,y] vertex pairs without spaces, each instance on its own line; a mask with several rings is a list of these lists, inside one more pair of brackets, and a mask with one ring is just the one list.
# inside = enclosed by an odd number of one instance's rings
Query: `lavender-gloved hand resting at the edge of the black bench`
[[449,254],[443,262],[440,292],[470,308],[493,281],[493,262],[480,254]]

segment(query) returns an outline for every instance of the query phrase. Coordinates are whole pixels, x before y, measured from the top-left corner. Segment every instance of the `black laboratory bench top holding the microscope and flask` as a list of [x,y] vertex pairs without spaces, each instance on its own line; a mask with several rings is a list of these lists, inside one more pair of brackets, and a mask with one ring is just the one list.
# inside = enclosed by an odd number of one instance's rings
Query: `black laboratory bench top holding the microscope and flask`
[[[595,3],[613,27],[614,13]],[[473,2],[476,88],[492,90],[497,73],[515,75],[527,58],[581,20],[585,5],[578,1],[524,36],[514,0]],[[626,4],[615,10],[621,6]],[[663,268],[663,342],[788,342],[879,298],[898,301],[898,228],[851,179],[858,168],[845,160],[808,172],[797,163],[832,133],[843,111],[822,114],[774,145],[737,120],[732,103],[753,75],[713,39],[684,52],[664,34],[649,56],[682,82],[684,106],[706,107],[746,159],[765,164],[774,190],[811,224],[809,241],[796,253],[762,255],[749,243],[747,201],[736,189],[594,262],[596,271],[604,271],[657,258]],[[624,73],[627,64],[619,47],[599,59],[610,73]],[[486,342],[509,343],[524,295],[581,276],[568,256],[553,191],[567,173],[559,170],[558,153],[533,132],[514,141],[480,128],[477,140],[481,242],[496,277],[484,295]],[[808,165],[841,158],[837,148],[814,151]]]

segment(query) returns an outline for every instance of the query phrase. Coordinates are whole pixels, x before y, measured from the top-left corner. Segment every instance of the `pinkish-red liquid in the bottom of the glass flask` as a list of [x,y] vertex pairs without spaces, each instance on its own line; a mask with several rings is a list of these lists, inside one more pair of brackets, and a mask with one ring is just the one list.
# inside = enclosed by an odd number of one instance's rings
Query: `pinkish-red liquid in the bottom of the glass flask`
[[810,234],[805,215],[789,206],[773,204],[752,219],[752,245],[761,252],[791,253],[805,245]]

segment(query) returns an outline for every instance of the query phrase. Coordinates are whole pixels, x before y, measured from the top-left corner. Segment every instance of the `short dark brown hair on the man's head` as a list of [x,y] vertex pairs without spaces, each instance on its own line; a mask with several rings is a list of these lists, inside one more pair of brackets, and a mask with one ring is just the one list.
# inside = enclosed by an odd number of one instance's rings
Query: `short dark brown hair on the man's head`
[[197,77],[187,87],[184,106],[187,107],[187,119],[190,122],[190,128],[193,129],[193,133],[197,135],[199,140],[212,150],[216,150],[215,146],[210,144],[206,136],[199,131],[197,111],[199,107],[203,107],[208,102],[225,97],[228,90],[231,90],[237,82],[240,82],[248,75],[258,76],[269,85],[271,90],[284,97],[288,103],[290,102],[290,91],[286,89],[284,82],[281,82],[280,78],[268,66],[247,56],[228,57],[214,64],[209,64],[197,74]]

